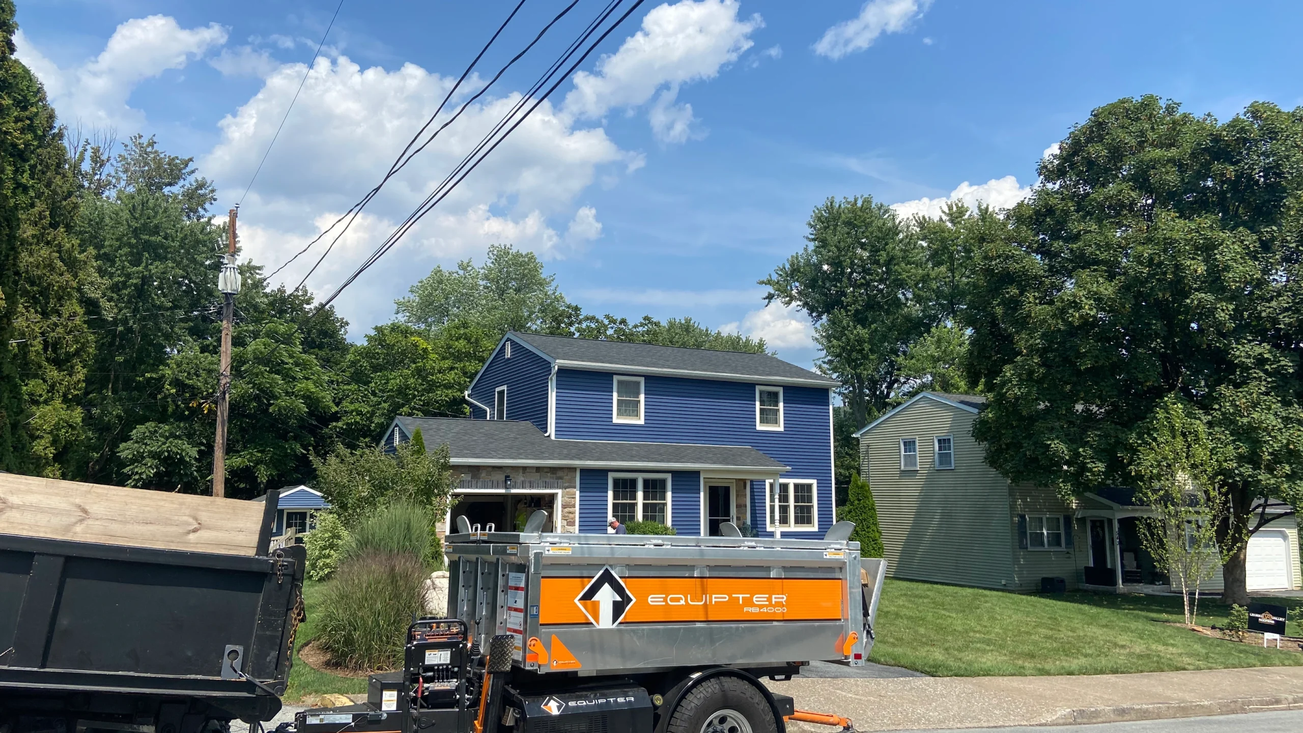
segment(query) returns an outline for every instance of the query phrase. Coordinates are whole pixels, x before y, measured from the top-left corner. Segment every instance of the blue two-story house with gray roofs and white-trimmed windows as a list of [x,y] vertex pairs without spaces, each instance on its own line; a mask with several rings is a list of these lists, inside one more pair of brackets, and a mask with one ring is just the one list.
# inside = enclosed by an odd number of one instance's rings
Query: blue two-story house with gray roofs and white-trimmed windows
[[616,517],[816,538],[835,521],[835,387],[767,354],[511,332],[466,391],[473,419],[400,417],[384,441],[448,445],[448,526],[509,530],[543,508],[554,531]]

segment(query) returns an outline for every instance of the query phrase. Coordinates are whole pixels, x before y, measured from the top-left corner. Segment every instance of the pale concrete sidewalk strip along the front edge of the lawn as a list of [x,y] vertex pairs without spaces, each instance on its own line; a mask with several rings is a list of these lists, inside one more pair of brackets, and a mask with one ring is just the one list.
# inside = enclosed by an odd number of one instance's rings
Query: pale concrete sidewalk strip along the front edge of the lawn
[[[856,730],[1063,725],[1303,710],[1303,668],[1259,667],[1071,677],[899,677],[765,682],[799,710]],[[791,723],[792,733],[837,733]]]

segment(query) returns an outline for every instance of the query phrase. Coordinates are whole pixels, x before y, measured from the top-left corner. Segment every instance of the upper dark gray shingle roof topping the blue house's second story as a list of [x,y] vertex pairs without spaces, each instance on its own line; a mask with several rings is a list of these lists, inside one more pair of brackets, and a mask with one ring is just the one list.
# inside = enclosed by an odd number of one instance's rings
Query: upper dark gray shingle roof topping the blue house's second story
[[[775,383],[804,383],[814,387],[837,387],[838,381],[808,368],[801,368],[769,354],[683,349],[655,344],[571,339],[539,333],[508,333],[558,362],[607,365],[650,372],[691,372],[715,378],[743,378]],[[563,365],[564,366],[564,365]],[[688,376],[685,374],[684,376]]]

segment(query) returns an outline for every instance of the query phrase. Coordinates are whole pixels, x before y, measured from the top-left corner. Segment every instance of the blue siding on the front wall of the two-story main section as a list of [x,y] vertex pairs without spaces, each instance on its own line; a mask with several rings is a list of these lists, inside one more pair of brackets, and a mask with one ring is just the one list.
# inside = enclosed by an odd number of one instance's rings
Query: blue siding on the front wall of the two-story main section
[[[817,482],[818,530],[787,531],[784,536],[817,539],[833,525],[831,417],[826,388],[783,387],[783,430],[764,431],[756,430],[757,383],[646,376],[644,384],[642,424],[616,423],[611,419],[611,372],[559,370],[556,437],[751,445],[791,466],[784,479]],[[767,536],[764,487],[764,482],[753,482],[752,518],[754,529]],[[685,534],[685,527],[678,529]]]

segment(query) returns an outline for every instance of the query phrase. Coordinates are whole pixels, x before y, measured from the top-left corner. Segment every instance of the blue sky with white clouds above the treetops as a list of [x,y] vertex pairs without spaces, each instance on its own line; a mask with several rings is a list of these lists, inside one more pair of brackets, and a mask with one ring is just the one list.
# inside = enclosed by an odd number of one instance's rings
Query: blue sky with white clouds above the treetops
[[[246,256],[284,262],[374,185],[513,4],[344,0],[241,207]],[[580,0],[395,178],[308,285],[332,290],[603,4]],[[195,156],[225,211],[335,5],[20,0],[20,57],[69,125],[156,134]],[[481,79],[562,7],[528,0]],[[1298,3],[645,3],[605,59],[589,59],[337,306],[357,339],[433,266],[511,242],[545,258],[588,311],[691,315],[808,363],[807,319],[764,309],[754,283],[801,247],[822,199],[1007,206],[1049,146],[1121,96],[1158,94],[1220,118],[1255,99],[1296,107],[1300,16]]]

